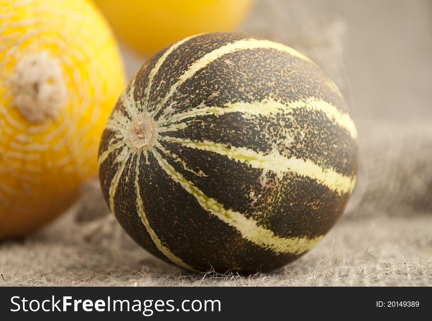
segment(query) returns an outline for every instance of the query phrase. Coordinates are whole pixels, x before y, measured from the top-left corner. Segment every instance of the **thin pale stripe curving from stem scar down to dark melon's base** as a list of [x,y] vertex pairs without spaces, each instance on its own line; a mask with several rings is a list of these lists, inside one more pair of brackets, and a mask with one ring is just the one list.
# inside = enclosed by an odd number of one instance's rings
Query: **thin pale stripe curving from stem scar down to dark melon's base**
[[136,193],[136,209],[138,211],[139,217],[141,218],[141,222],[144,225],[145,229],[147,230],[147,233],[150,235],[150,238],[152,239],[153,243],[155,243],[156,248],[162,252],[162,254],[164,256],[166,256],[171,262],[177,264],[179,267],[183,267],[188,269],[189,271],[193,271],[195,273],[198,273],[199,271],[196,270],[195,268],[189,266],[189,264],[183,262],[182,259],[178,258],[177,256],[175,256],[166,246],[164,246],[161,242],[161,240],[159,240],[157,234],[155,233],[155,231],[152,229],[152,227],[150,226],[150,222],[147,219],[147,216],[144,212],[144,207],[143,207],[143,203],[142,203],[142,198],[141,195],[139,193],[139,182],[138,182],[138,175],[139,175],[139,160],[141,157],[141,153],[139,153],[138,158],[136,160],[136,167],[135,167],[135,193]]

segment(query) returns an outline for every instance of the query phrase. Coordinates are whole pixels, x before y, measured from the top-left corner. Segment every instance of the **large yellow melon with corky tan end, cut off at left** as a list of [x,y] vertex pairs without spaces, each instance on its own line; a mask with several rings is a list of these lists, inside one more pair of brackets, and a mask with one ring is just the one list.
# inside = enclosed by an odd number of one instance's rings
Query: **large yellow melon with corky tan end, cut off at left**
[[0,240],[74,202],[97,171],[123,86],[115,40],[92,2],[0,2]]

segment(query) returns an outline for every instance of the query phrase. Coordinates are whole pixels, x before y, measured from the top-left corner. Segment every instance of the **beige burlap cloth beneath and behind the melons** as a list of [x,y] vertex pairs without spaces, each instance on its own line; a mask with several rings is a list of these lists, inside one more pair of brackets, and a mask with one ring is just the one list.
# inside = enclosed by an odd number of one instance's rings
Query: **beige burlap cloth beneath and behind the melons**
[[[0,244],[0,286],[432,285],[432,2],[257,0],[241,30],[312,58],[352,109],[360,172],[324,240],[270,274],[189,275],[129,239],[94,179],[53,224]],[[123,53],[131,76],[142,61]]]

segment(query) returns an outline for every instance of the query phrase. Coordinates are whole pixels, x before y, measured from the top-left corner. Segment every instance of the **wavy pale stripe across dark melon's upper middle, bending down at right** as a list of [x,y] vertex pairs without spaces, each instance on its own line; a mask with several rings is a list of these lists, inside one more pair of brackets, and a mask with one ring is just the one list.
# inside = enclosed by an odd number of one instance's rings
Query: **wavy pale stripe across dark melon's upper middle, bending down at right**
[[[353,139],[357,138],[357,129],[354,122],[352,121],[349,114],[340,111],[338,108],[334,107],[332,104],[325,102],[324,100],[310,97],[305,100],[297,100],[291,103],[281,103],[272,98],[265,98],[262,101],[257,101],[253,103],[237,102],[228,103],[224,107],[207,107],[198,106],[189,109],[185,112],[174,114],[169,119],[161,119],[157,124],[161,123],[164,125],[166,123],[179,122],[184,119],[204,116],[204,115],[223,115],[231,112],[240,112],[246,115],[253,116],[271,116],[278,113],[290,113],[294,109],[304,108],[307,110],[318,110],[321,111],[328,119],[335,122],[337,125],[346,129]],[[176,131],[184,129],[186,125],[179,124],[177,127],[172,125],[170,127],[162,127],[160,132]]]

